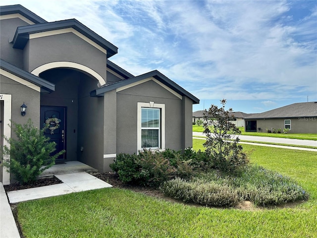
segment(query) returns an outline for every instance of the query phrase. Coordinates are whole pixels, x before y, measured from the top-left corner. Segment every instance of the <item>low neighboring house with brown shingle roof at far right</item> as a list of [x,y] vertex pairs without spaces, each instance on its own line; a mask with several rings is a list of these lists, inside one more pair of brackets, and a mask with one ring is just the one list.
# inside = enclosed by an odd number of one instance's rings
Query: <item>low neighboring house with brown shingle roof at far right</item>
[[317,102],[294,103],[244,118],[245,131],[287,128],[290,133],[317,133]]

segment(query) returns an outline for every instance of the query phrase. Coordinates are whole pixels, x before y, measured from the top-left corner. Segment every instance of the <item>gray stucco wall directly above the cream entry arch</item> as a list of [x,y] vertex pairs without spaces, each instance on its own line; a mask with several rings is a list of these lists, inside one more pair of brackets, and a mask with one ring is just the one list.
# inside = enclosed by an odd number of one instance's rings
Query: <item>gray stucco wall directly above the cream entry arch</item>
[[106,80],[106,54],[73,33],[34,38],[28,44],[25,57],[29,58],[29,65],[25,65],[25,70],[29,72],[46,63],[69,61],[93,69]]

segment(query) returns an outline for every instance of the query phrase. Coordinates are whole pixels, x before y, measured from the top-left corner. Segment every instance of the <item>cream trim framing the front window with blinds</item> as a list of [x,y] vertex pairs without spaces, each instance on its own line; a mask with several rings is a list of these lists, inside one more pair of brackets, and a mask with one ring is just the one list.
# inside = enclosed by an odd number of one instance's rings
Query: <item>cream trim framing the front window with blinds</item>
[[160,109],[160,148],[158,150],[165,150],[165,104],[154,102],[141,103],[138,102],[138,115],[137,115],[137,152],[142,150],[141,144],[141,109],[142,108],[159,108]]

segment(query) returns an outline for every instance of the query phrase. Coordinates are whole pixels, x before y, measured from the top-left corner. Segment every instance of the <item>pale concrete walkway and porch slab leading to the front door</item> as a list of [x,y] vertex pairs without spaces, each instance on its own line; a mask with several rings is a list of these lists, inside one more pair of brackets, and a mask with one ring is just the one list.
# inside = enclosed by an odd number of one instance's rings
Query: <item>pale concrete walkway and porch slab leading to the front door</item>
[[0,183],[0,238],[20,238],[9,203],[112,187],[111,184],[84,171],[96,170],[78,161],[54,165],[48,171],[45,171],[46,173],[42,174],[42,177],[54,175],[63,183],[10,191],[7,192],[7,195],[2,183]]

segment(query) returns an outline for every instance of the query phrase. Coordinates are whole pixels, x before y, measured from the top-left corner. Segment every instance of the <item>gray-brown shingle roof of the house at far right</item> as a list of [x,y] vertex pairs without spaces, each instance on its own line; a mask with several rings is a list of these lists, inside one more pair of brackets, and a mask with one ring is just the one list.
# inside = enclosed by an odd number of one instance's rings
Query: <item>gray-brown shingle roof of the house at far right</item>
[[253,114],[245,119],[317,117],[317,102],[294,103],[264,113]]

